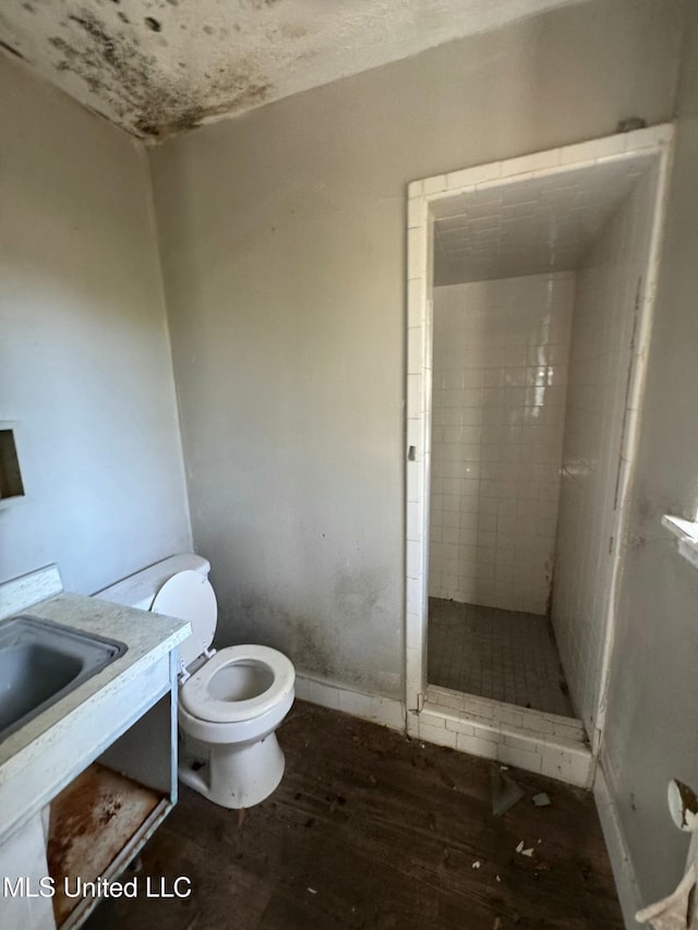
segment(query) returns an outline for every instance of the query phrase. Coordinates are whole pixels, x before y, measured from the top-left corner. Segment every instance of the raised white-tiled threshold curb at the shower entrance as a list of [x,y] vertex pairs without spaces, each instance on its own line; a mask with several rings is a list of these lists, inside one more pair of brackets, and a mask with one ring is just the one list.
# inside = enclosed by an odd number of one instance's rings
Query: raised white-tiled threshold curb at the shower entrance
[[581,721],[429,685],[419,738],[581,788],[594,760]]

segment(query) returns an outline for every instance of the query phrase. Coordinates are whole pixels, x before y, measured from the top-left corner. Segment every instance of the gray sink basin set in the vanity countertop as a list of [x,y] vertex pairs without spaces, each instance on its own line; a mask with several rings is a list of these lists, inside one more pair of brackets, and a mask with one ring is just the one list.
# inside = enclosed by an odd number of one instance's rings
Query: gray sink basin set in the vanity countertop
[[117,640],[37,617],[0,623],[0,741],[125,651]]

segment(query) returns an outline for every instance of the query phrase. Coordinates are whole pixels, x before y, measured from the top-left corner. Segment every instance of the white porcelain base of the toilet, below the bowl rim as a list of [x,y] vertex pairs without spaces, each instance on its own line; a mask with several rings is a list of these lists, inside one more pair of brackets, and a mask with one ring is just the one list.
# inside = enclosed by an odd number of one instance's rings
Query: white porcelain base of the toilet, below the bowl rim
[[181,750],[180,781],[214,804],[232,809],[268,798],[286,764],[274,732],[255,742],[232,745],[204,745],[189,737]]

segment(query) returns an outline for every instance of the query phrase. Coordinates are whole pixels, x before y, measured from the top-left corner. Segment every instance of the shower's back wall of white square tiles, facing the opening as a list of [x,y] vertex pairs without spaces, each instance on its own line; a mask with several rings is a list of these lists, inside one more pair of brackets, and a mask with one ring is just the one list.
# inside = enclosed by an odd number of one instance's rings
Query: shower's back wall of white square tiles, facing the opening
[[429,593],[546,614],[575,277],[434,290]]

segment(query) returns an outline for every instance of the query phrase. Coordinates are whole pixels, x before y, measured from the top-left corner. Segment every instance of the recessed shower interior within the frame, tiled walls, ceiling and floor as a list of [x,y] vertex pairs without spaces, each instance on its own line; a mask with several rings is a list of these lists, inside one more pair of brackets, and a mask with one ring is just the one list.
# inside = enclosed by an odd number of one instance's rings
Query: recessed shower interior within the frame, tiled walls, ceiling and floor
[[[571,715],[564,667],[575,683],[575,709],[593,726],[588,693],[603,650],[594,618],[603,616],[606,596],[598,576],[607,553],[599,543],[613,532],[654,186],[655,172],[633,164],[622,177],[580,177],[575,188],[567,180],[531,185],[528,200],[504,193],[488,201],[489,217],[466,205],[438,225],[429,595],[508,614],[464,614],[433,603],[440,607],[432,609],[430,636],[435,685]],[[556,190],[568,203],[563,219],[553,221]],[[507,224],[528,221],[533,241],[546,234],[540,224],[545,194],[549,226],[567,230],[557,241],[561,264],[574,267],[438,285],[458,267],[464,277],[483,267],[473,256],[481,243],[483,256],[500,254],[498,266],[486,259],[490,274],[517,267],[507,254]],[[534,252],[530,262],[537,271]],[[527,615],[552,620],[547,637],[529,627],[532,650],[512,626],[530,624]]]

